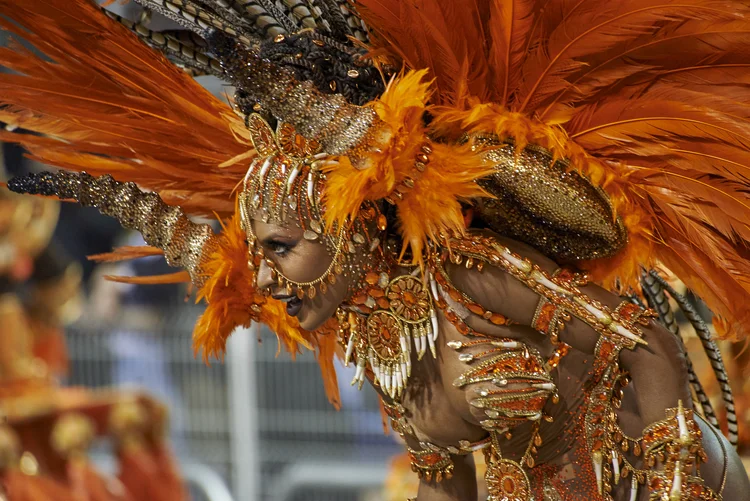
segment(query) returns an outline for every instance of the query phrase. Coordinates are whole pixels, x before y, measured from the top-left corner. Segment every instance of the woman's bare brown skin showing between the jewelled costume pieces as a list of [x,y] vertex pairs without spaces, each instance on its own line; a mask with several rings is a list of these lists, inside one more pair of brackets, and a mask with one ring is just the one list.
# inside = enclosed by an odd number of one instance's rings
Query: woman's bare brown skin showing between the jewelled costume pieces
[[[308,277],[316,272],[322,273],[330,263],[330,254],[327,259],[324,257],[327,252],[324,251],[325,247],[319,243],[305,242],[301,238],[301,231],[295,228],[281,229],[256,222],[254,229],[261,244],[264,245],[266,255],[271,256],[277,266],[282,268],[282,272],[293,280],[309,280],[311,278]],[[498,235],[490,235],[512,251],[529,258],[549,272],[558,268],[556,263],[528,246]],[[297,242],[295,245],[302,247],[296,250],[295,247],[281,248],[277,242],[280,236],[286,238],[286,242]],[[318,248],[315,249],[313,246],[318,246]],[[392,275],[398,274],[399,271],[405,270],[393,270]],[[497,326],[479,317],[470,316],[466,321],[473,329],[501,338],[521,340],[537,349],[543,357],[551,354],[552,345],[549,340],[529,327],[539,302],[539,296],[535,292],[509,274],[491,266],[485,267],[482,272],[476,269],[466,269],[463,266],[449,266],[447,271],[458,289],[486,309],[500,313],[516,323],[510,327]],[[271,292],[274,292],[270,271],[264,270],[263,266],[259,273],[258,285],[270,287]],[[300,313],[300,320],[304,320],[303,327],[317,328],[333,315],[336,308],[345,301],[345,292],[342,291],[344,289],[329,291],[325,295],[327,297],[321,299],[319,304],[306,304]],[[622,301],[616,295],[595,285],[582,288],[582,292],[610,308],[616,307]],[[305,312],[306,309],[308,312]],[[317,311],[311,313],[310,310]],[[305,312],[304,316],[303,312]],[[411,413],[410,422],[419,440],[442,446],[456,444],[459,440],[478,441],[487,436],[487,432],[479,424],[480,421],[486,419],[486,415],[480,409],[471,406],[469,402],[476,397],[477,390],[489,383],[477,383],[463,388],[453,386],[452,381],[466,370],[466,365],[458,360],[456,352],[447,348],[445,343],[465,338],[442,315],[441,311],[438,311],[438,316],[440,338],[437,358],[432,359],[427,355],[421,362],[414,365],[409,387],[403,398],[403,405]],[[318,321],[320,324],[315,325]],[[648,346],[638,346],[632,351],[623,350],[620,356],[621,366],[630,373],[632,384],[626,388],[618,417],[623,431],[630,436],[640,436],[648,424],[664,419],[665,409],[676,407],[679,400],[682,400],[686,407],[692,407],[686,360],[678,341],[671,333],[655,323],[645,327],[643,332]],[[594,329],[575,318],[566,323],[566,328],[560,336],[561,341],[569,344],[572,349],[552,373],[560,394],[560,403],[552,405],[548,402],[544,408],[545,413],[553,417],[553,422],[541,427],[543,444],[539,448],[536,459],[537,464],[561,466],[563,476],[566,472],[574,472],[573,451],[576,443],[563,443],[560,437],[564,436],[565,430],[573,426],[570,415],[582,403],[581,388],[590,379],[594,348],[598,337],[599,334]],[[416,355],[413,354],[412,358],[416,360]],[[739,457],[723,436],[713,433],[700,418],[698,421],[703,429],[704,448],[709,457],[708,463],[701,466],[703,479],[714,491],[718,492],[726,467],[724,499],[750,499],[748,495],[750,482]],[[531,424],[521,425],[514,429],[512,438],[504,440],[501,444],[504,456],[510,459],[520,459],[528,446],[530,437]],[[414,440],[407,438],[407,443],[412,448],[419,448],[418,443],[411,442]],[[453,477],[439,483],[422,480],[418,501],[477,499],[476,473],[472,457],[454,456],[453,460],[455,464]],[[574,483],[570,485],[575,488]],[[629,499],[629,487],[626,485],[629,486],[629,482],[620,482],[615,487],[613,496],[616,500]],[[640,489],[638,500],[647,499],[647,490]]]

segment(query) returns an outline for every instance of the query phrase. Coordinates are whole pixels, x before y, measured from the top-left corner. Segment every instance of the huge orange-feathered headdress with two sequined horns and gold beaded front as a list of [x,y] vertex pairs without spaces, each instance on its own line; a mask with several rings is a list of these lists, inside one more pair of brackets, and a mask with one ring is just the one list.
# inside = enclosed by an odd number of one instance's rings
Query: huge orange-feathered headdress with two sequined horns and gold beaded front
[[[750,325],[746,6],[138,3],[185,31],[84,1],[0,0],[2,28],[45,55],[0,52],[15,72],[0,76],[0,120],[37,133],[0,139],[112,176],[9,185],[97,206],[185,267],[208,302],[206,353],[253,319],[293,352],[328,342],[254,290],[246,263],[240,215],[281,217],[305,200],[320,226],[306,230],[341,236],[334,245],[364,245],[357,220],[384,201],[419,262],[473,214],[610,288],[665,266],[727,330]],[[191,79],[206,73],[236,87],[234,110]],[[231,217],[213,235],[187,214]]]

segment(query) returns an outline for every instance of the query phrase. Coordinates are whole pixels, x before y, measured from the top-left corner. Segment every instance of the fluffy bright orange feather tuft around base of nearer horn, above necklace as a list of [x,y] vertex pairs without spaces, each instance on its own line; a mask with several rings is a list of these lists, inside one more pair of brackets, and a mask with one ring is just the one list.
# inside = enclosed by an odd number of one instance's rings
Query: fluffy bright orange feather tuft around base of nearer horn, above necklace
[[461,200],[486,195],[475,183],[491,172],[469,145],[433,144],[424,172],[415,167],[417,154],[427,141],[422,117],[427,109],[426,71],[410,72],[394,81],[372,106],[391,131],[391,140],[378,151],[365,153],[365,169],[356,169],[348,158],[328,162],[324,191],[325,217],[329,228],[346,224],[365,200],[392,196],[407,178],[414,186],[396,197],[404,250],[410,248],[421,262],[422,250],[442,231],[463,232]]

